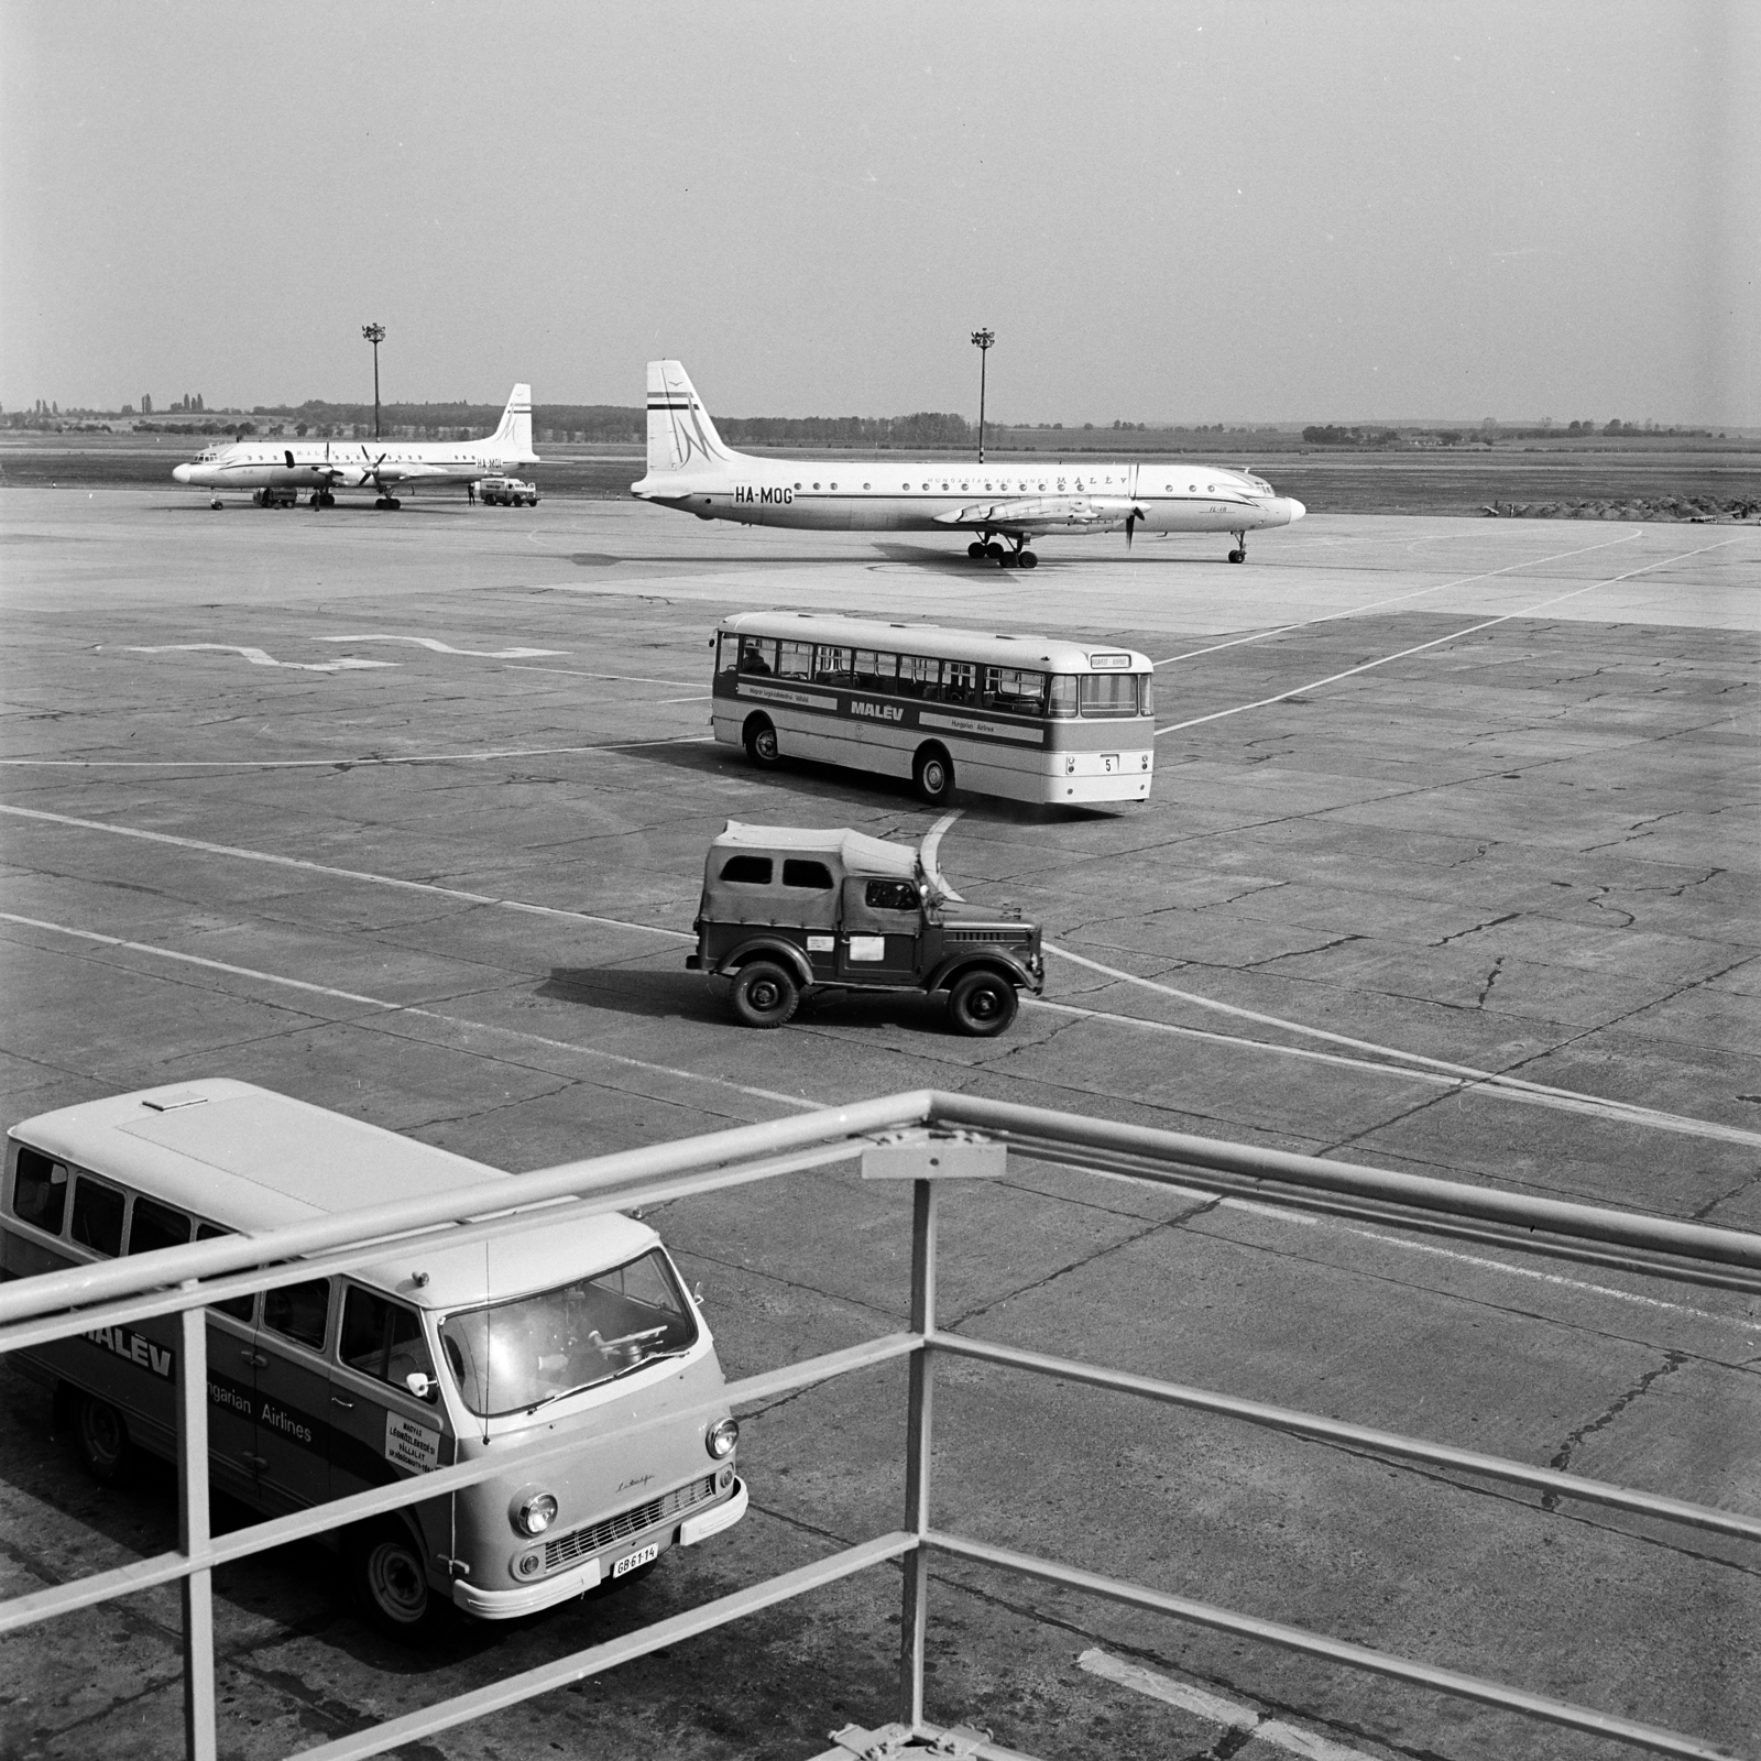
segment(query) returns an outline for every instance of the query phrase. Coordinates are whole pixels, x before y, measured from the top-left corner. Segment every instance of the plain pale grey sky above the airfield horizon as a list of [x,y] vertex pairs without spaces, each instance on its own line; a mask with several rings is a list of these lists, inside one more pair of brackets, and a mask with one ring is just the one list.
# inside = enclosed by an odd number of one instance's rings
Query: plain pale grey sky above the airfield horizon
[[1761,5],[0,0],[0,403],[1761,426]]

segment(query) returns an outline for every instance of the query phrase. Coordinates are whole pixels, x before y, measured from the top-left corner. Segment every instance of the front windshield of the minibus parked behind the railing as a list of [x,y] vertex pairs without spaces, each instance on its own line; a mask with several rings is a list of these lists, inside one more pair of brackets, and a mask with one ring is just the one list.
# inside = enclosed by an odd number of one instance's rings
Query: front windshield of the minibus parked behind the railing
[[530,1411],[696,1342],[696,1315],[659,1249],[537,1296],[465,1308],[440,1324],[447,1368],[477,1418]]

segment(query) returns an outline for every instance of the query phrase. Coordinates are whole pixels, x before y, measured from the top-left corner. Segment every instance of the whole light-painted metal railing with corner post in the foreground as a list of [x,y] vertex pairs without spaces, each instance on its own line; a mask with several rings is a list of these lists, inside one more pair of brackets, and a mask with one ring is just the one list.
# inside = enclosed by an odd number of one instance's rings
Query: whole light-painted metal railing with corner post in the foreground
[[[900,1641],[898,1715],[921,1736],[944,1728],[925,1715],[925,1643],[930,1622],[930,1562],[976,1564],[1064,1585],[1176,1620],[1326,1659],[1416,1687],[1525,1713],[1567,1729],[1615,1738],[1655,1754],[1713,1761],[1731,1752],[1699,1738],[1641,1724],[1615,1713],[1551,1699],[1499,1682],[1440,1669],[1363,1645],[1326,1638],[1301,1627],[1236,1613],[1146,1585],[1079,1571],[1050,1558],[1014,1553],[939,1530],[932,1522],[930,1455],[933,1440],[935,1365],[940,1358],[967,1358],[1051,1375],[1092,1388],[1190,1411],[1229,1416],[1296,1437],[1326,1439],[1404,1462],[1421,1462],[1485,1479],[1527,1486],[1551,1499],[1571,1499],[1638,1513],[1743,1541],[1761,1541],[1761,1518],[1694,1504],[1636,1488],[1608,1485],[1576,1474],[1532,1467],[1525,1462],[1456,1449],[1418,1437],[1351,1425],[1321,1414],[1243,1400],[1146,1375],[1046,1356],[947,1333],[937,1326],[937,1217],[939,1189],[951,1178],[984,1178],[1004,1171],[1009,1148],[1053,1162],[1129,1173],[1164,1185],[1206,1190],[1252,1190],[1270,1203],[1296,1205],[1398,1220],[1405,1227],[1472,1234],[1499,1247],[1595,1259],[1666,1278],[1717,1282],[1761,1293],[1761,1234],[1676,1222],[1636,1212],[1569,1205],[1507,1194],[1418,1175],[1349,1162],[1321,1160],[1245,1145],[1219,1143],[1178,1132],[1115,1125],[1102,1120],[1009,1106],[967,1095],[917,1090],[847,1108],[833,1108],[763,1125],[687,1138],[676,1143],[569,1162],[519,1176],[523,1206],[572,1199],[553,1215],[593,1215],[650,1206],[726,1187],[770,1180],[784,1173],[863,1157],[870,1178],[909,1180],[912,1185],[910,1326],[845,1351],[768,1370],[731,1382],[704,1402],[701,1412],[743,1407],[778,1395],[896,1359],[907,1361],[907,1460],[903,1527],[844,1548],[826,1558],[724,1595],[669,1620],[608,1643],[592,1645],[537,1669],[509,1676],[470,1694],[444,1699],[421,1712],[372,1729],[301,1750],[308,1761],[354,1761],[382,1754],[486,1713],[514,1706],[537,1694],[615,1668],[632,1657],[676,1645],[743,1615],[833,1583],[889,1560],[905,1574]],[[208,1398],[204,1307],[257,1289],[305,1282],[382,1261],[398,1238],[447,1229],[454,1242],[493,1240],[528,1227],[525,1217],[505,1217],[504,1180],[438,1197],[375,1206],[298,1224],[264,1236],[220,1240],[166,1249],[151,1256],[109,1259],[65,1271],[19,1278],[0,1287],[0,1351],[41,1345],[99,1326],[134,1323],[148,1315],[181,1317],[178,1352],[178,1548],[114,1571],[95,1573],[0,1603],[0,1632],[72,1613],[150,1585],[176,1581],[183,1601],[185,1742],[192,1761],[211,1761],[215,1731],[213,1571],[231,1560],[284,1546],[394,1511],[405,1504],[456,1492],[567,1453],[572,1442],[532,1442],[497,1449],[491,1460],[416,1474],[393,1486],[363,1492],[291,1516],[254,1523],[227,1536],[208,1529]],[[486,1212],[498,1220],[472,1222]],[[655,1423],[676,1423],[671,1411]],[[643,1425],[620,1426],[616,1435],[639,1435]],[[977,1754],[1007,1750],[979,1743]]]

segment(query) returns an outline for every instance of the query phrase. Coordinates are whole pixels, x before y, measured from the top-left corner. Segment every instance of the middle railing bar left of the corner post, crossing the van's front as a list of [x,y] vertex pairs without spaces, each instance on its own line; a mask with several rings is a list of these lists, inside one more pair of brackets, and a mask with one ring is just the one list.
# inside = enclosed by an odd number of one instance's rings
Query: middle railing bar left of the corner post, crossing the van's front
[[[789,1363],[778,1370],[764,1370],[759,1375],[729,1382],[710,1398],[694,1402],[689,1407],[671,1407],[634,1425],[595,1432],[595,1442],[611,1437],[639,1437],[643,1432],[662,1425],[671,1426],[680,1419],[718,1412],[724,1405],[740,1407],[773,1400],[777,1395],[796,1393],[798,1389],[812,1388],[815,1382],[831,1381],[836,1375],[849,1375],[854,1370],[866,1370],[880,1363],[891,1363],[896,1358],[909,1358],[921,1345],[923,1338],[916,1333],[882,1333],[858,1345],[845,1345],[842,1351],[828,1351],[819,1358],[803,1358],[799,1363]],[[174,1583],[178,1578],[187,1578],[195,1571],[213,1571],[217,1566],[231,1566],[234,1560],[248,1558],[254,1553],[266,1553],[269,1548],[287,1546],[292,1541],[306,1541],[312,1536],[329,1534],[333,1529],[347,1529],[352,1523],[365,1522],[368,1516],[384,1516],[389,1511],[402,1509],[405,1504],[424,1504],[428,1499],[444,1499],[451,1492],[461,1492],[465,1486],[475,1486],[484,1479],[518,1472],[555,1456],[572,1455],[579,1446],[579,1433],[569,1432],[560,1437],[549,1435],[528,1444],[514,1444],[497,1449],[488,1456],[479,1456],[475,1462],[435,1469],[430,1474],[412,1474],[409,1479],[400,1479],[391,1486],[375,1486],[372,1492],[356,1492],[347,1499],[333,1499],[328,1504],[313,1504],[289,1516],[275,1516],[264,1523],[234,1529],[231,1534],[215,1536],[206,1548],[192,1555],[155,1553],[150,1558],[130,1560],[127,1566],[118,1566],[111,1571],[76,1578],[70,1583],[56,1583],[44,1590],[32,1590],[26,1595],[14,1595],[0,1603],[0,1634],[14,1632],[19,1627],[28,1627],[56,1615],[70,1615],[76,1610],[92,1608],[118,1595],[134,1595],[137,1590],[150,1590],[158,1583]]]

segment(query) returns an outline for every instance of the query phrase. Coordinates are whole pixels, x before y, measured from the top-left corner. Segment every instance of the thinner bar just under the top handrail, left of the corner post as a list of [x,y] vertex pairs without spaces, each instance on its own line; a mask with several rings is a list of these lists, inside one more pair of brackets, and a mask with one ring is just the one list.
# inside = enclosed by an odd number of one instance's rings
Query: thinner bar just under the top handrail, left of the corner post
[[[703,1175],[682,1175],[676,1180],[660,1182],[659,1185],[645,1185],[639,1192],[611,1190],[574,1203],[551,1203],[542,1212],[519,1210],[493,1222],[460,1224],[456,1229],[428,1227],[414,1234],[393,1238],[380,1236],[366,1245],[313,1254],[292,1264],[284,1261],[273,1266],[257,1266],[250,1271],[234,1271],[220,1278],[206,1278],[194,1293],[183,1286],[174,1286],[171,1289],[153,1289],[143,1296],[116,1298],[114,1301],[74,1310],[58,1303],[55,1314],[42,1315],[37,1321],[14,1321],[9,1326],[0,1326],[0,1352],[26,1351],[56,1338],[67,1338],[70,1333],[90,1333],[100,1326],[130,1326],[136,1321],[150,1321],[153,1315],[174,1314],[180,1308],[210,1308],[232,1296],[273,1291],[284,1284],[305,1284],[310,1278],[326,1277],[333,1271],[352,1271],[356,1266],[370,1266],[393,1254],[421,1252],[428,1245],[454,1249],[475,1247],[479,1242],[498,1242],[504,1236],[530,1231],[534,1220],[564,1224],[579,1220],[581,1217],[604,1217],[615,1210],[634,1210],[637,1206],[696,1197],[703,1192],[722,1192],[727,1187],[750,1185],[757,1180],[771,1180],[777,1175],[792,1175],[807,1168],[822,1168],[831,1162],[849,1160],[852,1155],[861,1155],[863,1145],[872,1141],[872,1138],[858,1138],[851,1143],[835,1143],[826,1148],[796,1150],[792,1155],[773,1155],[761,1162],[743,1162],[738,1168],[715,1168]],[[268,1242],[269,1238],[259,1236],[257,1240]],[[39,1277],[56,1277],[56,1273],[39,1273]],[[190,1300],[192,1294],[195,1301]]]

